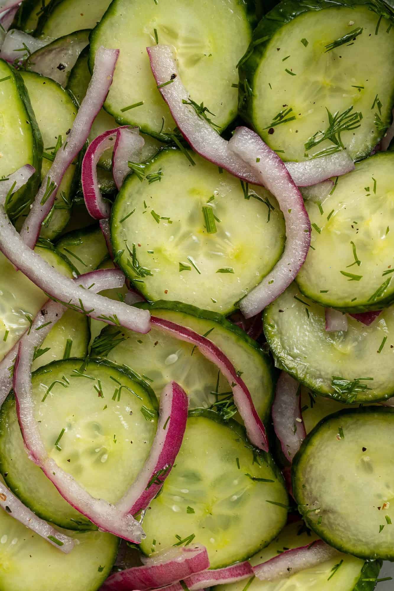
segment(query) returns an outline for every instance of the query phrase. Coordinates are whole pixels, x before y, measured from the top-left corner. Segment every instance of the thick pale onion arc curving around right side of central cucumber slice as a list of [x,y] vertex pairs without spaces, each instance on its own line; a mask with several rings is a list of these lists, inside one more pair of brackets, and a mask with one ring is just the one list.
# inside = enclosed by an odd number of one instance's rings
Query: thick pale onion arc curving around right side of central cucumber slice
[[241,311],[250,318],[280,296],[298,274],[311,243],[311,223],[302,195],[282,160],[257,134],[246,127],[238,127],[228,145],[255,168],[260,184],[276,197],[286,222],[286,244],[282,257],[263,281],[241,300]]

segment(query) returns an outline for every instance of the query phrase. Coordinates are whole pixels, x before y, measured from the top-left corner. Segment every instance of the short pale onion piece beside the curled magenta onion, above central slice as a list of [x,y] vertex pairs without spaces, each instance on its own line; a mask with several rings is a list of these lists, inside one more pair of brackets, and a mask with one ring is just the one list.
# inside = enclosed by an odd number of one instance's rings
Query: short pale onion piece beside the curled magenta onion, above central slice
[[118,128],[117,139],[112,152],[112,175],[118,190],[122,186],[124,177],[130,173],[128,162],[140,162],[144,143],[144,138],[139,135],[138,127]]

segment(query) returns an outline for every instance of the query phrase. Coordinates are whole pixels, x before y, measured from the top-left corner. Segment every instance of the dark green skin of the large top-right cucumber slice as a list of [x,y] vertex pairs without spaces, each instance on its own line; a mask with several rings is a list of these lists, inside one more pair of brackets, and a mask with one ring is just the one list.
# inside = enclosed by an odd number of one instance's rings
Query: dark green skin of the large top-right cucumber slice
[[[260,61],[263,59],[269,46],[270,40],[286,23],[298,17],[304,12],[320,11],[324,8],[330,7],[355,7],[357,5],[367,5],[370,10],[376,14],[383,15],[393,21],[394,11],[382,0],[283,0],[276,5],[268,14],[261,18],[261,21],[253,31],[253,40],[248,47],[244,57],[241,59],[241,64],[238,67],[238,74],[240,77],[238,85],[238,113],[241,117],[253,127],[253,109],[252,101],[254,77],[259,67]],[[257,40],[261,43],[254,46]],[[249,56],[249,57],[247,57]],[[247,57],[247,59],[245,59]],[[245,59],[245,61],[243,61]],[[394,91],[391,97],[391,103],[394,102]],[[382,132],[382,137],[385,135]],[[377,139],[376,143],[381,138]],[[369,152],[363,154],[362,157],[369,155]]]

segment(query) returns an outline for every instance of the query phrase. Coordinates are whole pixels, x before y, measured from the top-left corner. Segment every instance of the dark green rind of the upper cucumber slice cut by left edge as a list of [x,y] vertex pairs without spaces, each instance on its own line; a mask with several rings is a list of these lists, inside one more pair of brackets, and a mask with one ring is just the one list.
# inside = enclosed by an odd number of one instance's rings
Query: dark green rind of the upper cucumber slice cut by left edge
[[[1,61],[7,64],[6,61]],[[11,221],[14,221],[22,213],[25,206],[33,201],[35,195],[37,194],[38,186],[41,182],[41,164],[43,162],[44,148],[43,138],[41,138],[41,132],[38,128],[37,121],[35,120],[34,111],[31,106],[30,98],[22,77],[14,67],[12,67],[10,64],[7,65],[9,67],[9,74],[15,80],[18,94],[25,109],[26,119],[31,125],[31,131],[33,135],[33,162],[31,165],[35,168],[35,173],[32,174],[25,186],[14,194],[11,204],[9,204],[6,208],[9,218]]]

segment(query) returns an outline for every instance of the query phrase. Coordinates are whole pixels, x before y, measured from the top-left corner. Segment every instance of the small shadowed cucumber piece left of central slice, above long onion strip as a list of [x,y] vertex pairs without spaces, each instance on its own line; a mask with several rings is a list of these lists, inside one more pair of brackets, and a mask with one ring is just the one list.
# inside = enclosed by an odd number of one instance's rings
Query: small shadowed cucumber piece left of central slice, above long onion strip
[[98,226],[64,234],[56,243],[56,250],[77,275],[93,271],[108,256],[105,239]]

